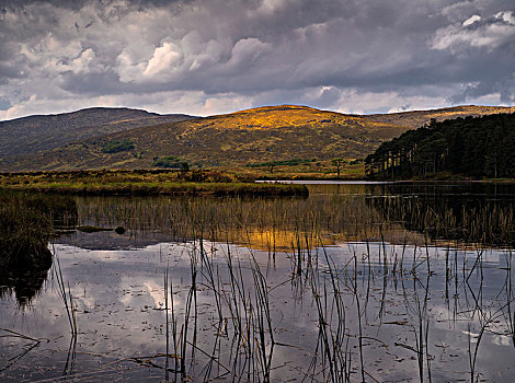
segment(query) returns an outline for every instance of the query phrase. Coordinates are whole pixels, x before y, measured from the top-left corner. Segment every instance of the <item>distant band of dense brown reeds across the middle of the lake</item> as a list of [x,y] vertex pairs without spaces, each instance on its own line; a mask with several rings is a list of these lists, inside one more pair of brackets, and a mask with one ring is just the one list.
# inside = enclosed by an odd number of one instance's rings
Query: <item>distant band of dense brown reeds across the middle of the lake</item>
[[[81,199],[84,224],[122,225],[138,232],[159,230],[178,240],[204,228],[211,241],[242,242],[268,249],[301,237],[320,236],[325,245],[344,241],[387,241],[423,245],[451,242],[507,246],[515,243],[514,205],[485,202],[448,206],[417,198],[312,196],[301,198],[101,198]],[[313,243],[313,241],[308,241]],[[272,248],[272,252],[274,248]]]

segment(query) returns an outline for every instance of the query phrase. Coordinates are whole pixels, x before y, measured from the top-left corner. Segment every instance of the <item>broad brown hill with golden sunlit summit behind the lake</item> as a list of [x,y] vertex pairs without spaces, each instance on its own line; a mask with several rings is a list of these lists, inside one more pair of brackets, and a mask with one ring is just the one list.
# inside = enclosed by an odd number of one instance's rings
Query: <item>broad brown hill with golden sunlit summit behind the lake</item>
[[0,169],[145,169],[168,155],[203,166],[294,158],[365,158],[381,142],[432,118],[512,112],[515,107],[460,106],[359,116],[296,105],[268,106],[96,136],[28,156],[4,159]]

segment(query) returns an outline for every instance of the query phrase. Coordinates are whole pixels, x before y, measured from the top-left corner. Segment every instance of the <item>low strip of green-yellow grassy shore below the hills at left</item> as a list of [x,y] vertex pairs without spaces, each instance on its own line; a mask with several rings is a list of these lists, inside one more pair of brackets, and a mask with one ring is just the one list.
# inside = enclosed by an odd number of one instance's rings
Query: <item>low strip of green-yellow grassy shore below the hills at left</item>
[[304,185],[243,182],[219,172],[70,171],[0,173],[0,188],[62,195],[307,196]]

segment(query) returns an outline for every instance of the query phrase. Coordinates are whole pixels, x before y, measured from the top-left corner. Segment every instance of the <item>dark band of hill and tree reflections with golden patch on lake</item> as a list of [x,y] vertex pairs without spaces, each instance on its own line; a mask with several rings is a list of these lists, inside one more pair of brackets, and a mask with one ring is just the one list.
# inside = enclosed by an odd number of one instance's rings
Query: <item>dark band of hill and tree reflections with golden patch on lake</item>
[[[75,233],[88,248],[144,246],[198,236],[270,252],[345,241],[511,245],[513,185],[362,183],[308,185],[300,198],[79,198],[80,224],[124,235]],[[321,243],[316,243],[320,242]]]

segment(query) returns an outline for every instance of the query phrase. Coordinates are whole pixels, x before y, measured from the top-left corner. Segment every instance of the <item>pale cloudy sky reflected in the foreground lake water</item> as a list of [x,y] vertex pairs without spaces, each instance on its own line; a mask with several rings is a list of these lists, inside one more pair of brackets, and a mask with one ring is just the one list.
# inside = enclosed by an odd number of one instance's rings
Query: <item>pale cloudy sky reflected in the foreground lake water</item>
[[[162,379],[160,371],[164,360],[157,356],[165,353],[167,295],[163,276],[168,267],[173,300],[170,306],[173,306],[178,328],[176,339],[170,339],[170,353],[183,355],[181,347],[176,350],[174,345],[180,343],[181,329],[185,326],[191,307],[186,343],[187,375],[195,376],[193,381],[202,382],[205,368],[213,360],[214,349],[216,361],[230,372],[225,376],[226,381],[231,381],[234,374],[240,375],[241,371],[234,371],[231,365],[244,365],[249,357],[245,357],[247,347],[260,345],[259,338],[255,338],[260,334],[260,324],[253,322],[260,317],[254,315],[259,312],[256,304],[261,304],[254,295],[259,291],[255,286],[258,280],[253,277],[256,269],[252,266],[251,253],[243,247],[209,242],[203,246],[214,279],[209,277],[208,264],[201,259],[198,242],[161,243],[137,252],[85,251],[57,245],[57,256],[65,279],[71,286],[77,310],[79,335],[73,374],[81,376],[88,373],[93,381],[102,381],[104,375],[119,376],[121,373],[135,381]],[[266,252],[253,252],[263,275],[266,274],[270,291],[267,310],[276,344],[273,349],[266,322],[262,325],[266,329],[267,345],[263,351],[266,358],[272,357],[271,381],[301,380],[306,375],[322,380],[323,371],[328,369],[325,352],[329,351],[318,353],[314,361],[312,357],[320,347],[330,347],[329,356],[342,363],[346,360],[341,367],[350,376],[360,373],[362,348],[364,370],[375,379],[413,379],[419,376],[417,345],[424,349],[422,374],[425,379],[428,373],[434,381],[455,381],[461,379],[464,373],[469,374],[469,345],[472,352],[476,345],[480,345],[473,368],[481,373],[482,380],[495,380],[499,372],[503,376],[512,376],[510,365],[514,357],[514,333],[510,313],[514,309],[511,292],[514,281],[513,277],[506,279],[506,271],[502,269],[511,257],[510,253],[489,251],[481,257],[482,277],[479,267],[478,272],[467,270],[470,277],[461,277],[461,267],[457,274],[446,275],[446,258],[450,265],[467,264],[471,267],[478,254],[467,251],[447,253],[437,247],[430,248],[428,254],[426,252],[426,248],[414,246],[402,248],[381,243],[347,243],[312,251],[311,268],[307,266],[308,253],[304,252],[302,271],[294,276],[291,270],[296,267],[291,265],[291,257],[277,257],[275,267],[267,267]],[[241,272],[241,277],[232,282],[229,253],[233,270]],[[355,263],[356,255],[358,259]],[[432,259],[431,265],[425,259],[427,255]],[[193,302],[190,293],[193,283],[192,256],[197,257],[197,263],[193,265],[196,265],[198,286]],[[329,259],[331,263],[328,263]],[[213,281],[224,286],[222,290],[217,290],[222,298],[219,302],[221,324],[217,314],[217,292],[210,288]],[[12,326],[9,328],[37,335],[37,338],[57,339],[39,345],[37,353],[26,355],[10,376],[26,374],[34,380],[52,379],[59,376],[65,365],[68,336],[62,334],[67,334],[64,329],[68,320],[62,301],[50,293],[53,283],[38,298],[38,305],[44,310],[28,313],[23,323],[13,321],[15,316],[10,316],[13,314],[12,307],[3,303],[1,327]],[[236,285],[231,287],[231,283]],[[238,293],[240,288],[242,295]],[[337,309],[336,302],[342,304],[341,309]],[[423,309],[424,305],[426,309]],[[251,306],[254,309],[251,310]],[[195,315],[194,307],[197,307]],[[234,310],[241,312],[237,314]],[[32,325],[27,326],[28,323]],[[37,325],[34,327],[34,324]],[[245,324],[252,326],[245,327]],[[240,325],[241,329],[238,329]],[[342,326],[340,332],[339,326]],[[479,334],[484,328],[487,330],[480,338]],[[321,330],[327,332],[329,337],[324,338]],[[238,334],[243,334],[243,338],[238,340]],[[417,344],[421,334],[422,346]],[[249,339],[248,335],[252,337]],[[238,353],[241,358],[238,363],[243,364],[231,364],[231,361],[234,362],[231,350],[237,347],[233,336],[237,337],[237,345],[241,341],[242,353]],[[197,349],[192,359],[191,345],[194,343],[208,356]],[[0,348],[5,350],[5,347],[14,346],[0,341]],[[53,357],[42,359],[41,355]],[[117,371],[110,368],[113,361],[118,363]],[[149,368],[141,368],[140,363],[145,361],[151,361],[153,367],[145,364]],[[170,363],[173,370],[175,359],[172,358]],[[42,368],[28,368],[34,365]],[[220,374],[227,372],[222,367],[217,370]],[[210,378],[215,375],[213,373]],[[263,375],[254,378],[255,381],[264,381]],[[221,378],[219,380],[224,381]],[[370,379],[365,378],[365,381]]]

